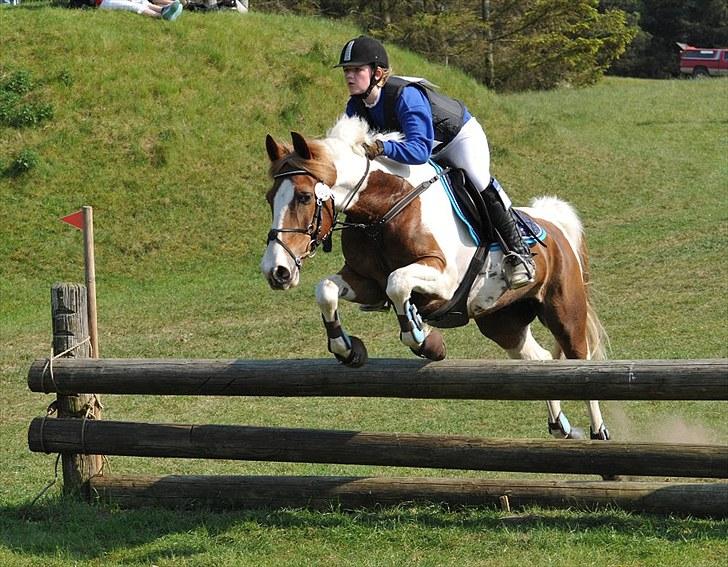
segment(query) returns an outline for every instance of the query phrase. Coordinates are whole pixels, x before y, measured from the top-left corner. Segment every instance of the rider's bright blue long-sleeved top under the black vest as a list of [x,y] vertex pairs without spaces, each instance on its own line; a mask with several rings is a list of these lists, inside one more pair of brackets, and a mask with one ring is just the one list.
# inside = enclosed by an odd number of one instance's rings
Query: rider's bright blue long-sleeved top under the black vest
[[[427,162],[435,145],[435,128],[432,120],[432,106],[425,94],[413,85],[402,89],[395,112],[402,127],[404,140],[384,142],[384,155],[400,163],[417,165]],[[384,127],[384,96],[368,108],[370,117],[377,127]],[[346,114],[355,116],[356,107],[350,99]]]

